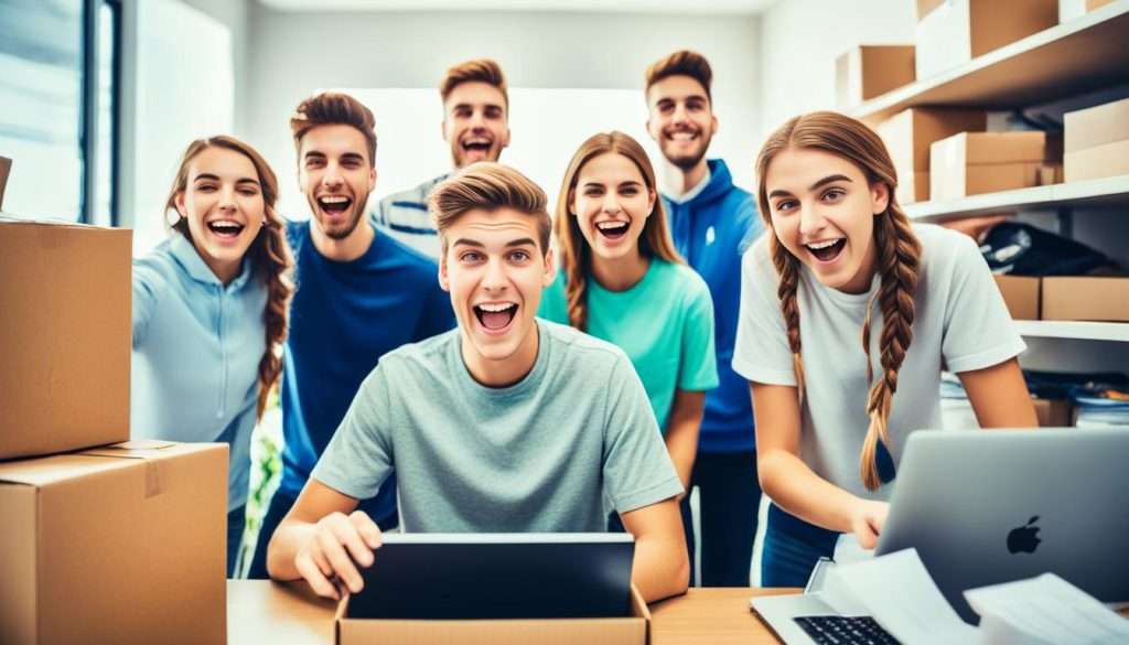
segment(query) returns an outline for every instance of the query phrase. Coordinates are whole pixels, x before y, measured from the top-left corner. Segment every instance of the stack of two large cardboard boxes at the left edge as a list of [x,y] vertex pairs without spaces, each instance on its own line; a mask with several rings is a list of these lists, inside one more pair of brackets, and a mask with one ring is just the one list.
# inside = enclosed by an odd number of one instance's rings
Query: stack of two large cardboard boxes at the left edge
[[226,640],[227,446],[128,442],[130,243],[0,219],[5,643]]

